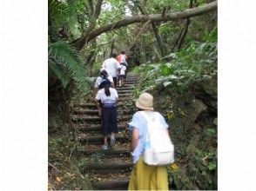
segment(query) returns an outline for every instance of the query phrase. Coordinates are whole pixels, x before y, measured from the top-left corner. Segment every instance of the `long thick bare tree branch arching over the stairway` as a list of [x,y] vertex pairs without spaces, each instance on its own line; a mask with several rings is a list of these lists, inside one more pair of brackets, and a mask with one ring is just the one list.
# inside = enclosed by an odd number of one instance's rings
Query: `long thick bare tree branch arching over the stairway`
[[[98,0],[101,1],[101,0]],[[72,44],[77,47],[77,49],[82,49],[84,47],[85,39],[87,41],[90,41],[91,39],[100,36],[102,33],[113,30],[113,29],[119,29],[121,27],[125,27],[127,25],[130,25],[132,23],[145,23],[148,20],[151,20],[152,22],[160,22],[160,21],[177,21],[179,19],[185,19],[192,16],[199,16],[203,15],[209,11],[216,10],[217,9],[217,1],[214,1],[212,3],[207,3],[205,5],[187,9],[183,11],[178,11],[174,13],[165,14],[165,16],[162,16],[162,14],[155,14],[155,15],[140,15],[140,16],[127,16],[125,19],[120,20],[116,23],[109,23],[106,24],[96,30],[91,30],[88,32],[88,34],[82,34],[81,37],[76,39]]]

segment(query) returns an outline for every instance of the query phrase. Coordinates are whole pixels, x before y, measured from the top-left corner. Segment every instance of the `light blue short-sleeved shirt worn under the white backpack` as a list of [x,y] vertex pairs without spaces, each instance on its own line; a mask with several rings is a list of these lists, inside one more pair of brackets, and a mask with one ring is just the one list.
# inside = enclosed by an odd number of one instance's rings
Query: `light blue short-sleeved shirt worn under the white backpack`
[[[138,128],[138,145],[131,153],[133,163],[136,163],[139,159],[139,156],[144,153],[145,148],[145,138],[146,138],[146,125],[147,121],[145,117],[140,113],[141,111],[136,112],[129,123],[129,129],[132,131],[133,128]],[[159,115],[159,121],[163,124],[165,128],[168,128],[168,124],[165,122],[165,118],[158,112],[154,111],[144,111],[149,117],[152,117],[153,113],[157,113]]]

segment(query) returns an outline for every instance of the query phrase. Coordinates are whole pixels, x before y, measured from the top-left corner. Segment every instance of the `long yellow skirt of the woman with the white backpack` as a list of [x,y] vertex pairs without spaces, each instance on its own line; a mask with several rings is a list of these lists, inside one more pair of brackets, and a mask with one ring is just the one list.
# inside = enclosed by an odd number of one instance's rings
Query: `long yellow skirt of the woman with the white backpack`
[[131,171],[128,190],[168,190],[166,166],[149,166],[140,156]]

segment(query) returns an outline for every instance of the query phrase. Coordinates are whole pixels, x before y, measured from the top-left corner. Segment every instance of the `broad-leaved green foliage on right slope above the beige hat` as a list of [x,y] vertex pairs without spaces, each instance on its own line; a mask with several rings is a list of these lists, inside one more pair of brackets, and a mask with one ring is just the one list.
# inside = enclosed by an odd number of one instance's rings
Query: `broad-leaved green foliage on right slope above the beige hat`
[[141,88],[163,83],[165,87],[176,85],[180,92],[184,92],[190,83],[217,74],[217,43],[191,42],[170,57],[171,62],[142,65],[133,70],[143,76]]

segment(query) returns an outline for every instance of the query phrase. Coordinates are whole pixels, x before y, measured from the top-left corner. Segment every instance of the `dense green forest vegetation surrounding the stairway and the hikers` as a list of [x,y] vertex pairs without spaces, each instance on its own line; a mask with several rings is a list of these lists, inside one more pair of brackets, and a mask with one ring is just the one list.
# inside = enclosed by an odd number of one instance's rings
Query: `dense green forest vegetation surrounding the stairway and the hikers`
[[103,155],[81,156],[84,146],[71,110],[91,102],[102,63],[121,50],[139,79],[120,112],[147,91],[170,120],[179,166],[168,171],[170,188],[218,188],[217,5],[212,0],[49,0],[49,189],[91,189],[94,179],[104,179],[81,170],[90,160],[100,163]]

